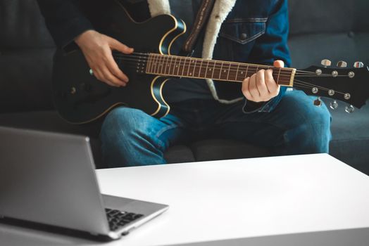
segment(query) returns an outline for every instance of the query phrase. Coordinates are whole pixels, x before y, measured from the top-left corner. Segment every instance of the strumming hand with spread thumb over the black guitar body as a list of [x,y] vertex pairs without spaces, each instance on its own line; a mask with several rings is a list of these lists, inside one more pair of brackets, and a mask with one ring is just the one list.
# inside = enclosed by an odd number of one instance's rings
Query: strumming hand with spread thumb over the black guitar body
[[75,43],[80,46],[96,79],[117,87],[127,84],[128,77],[115,63],[111,51],[117,50],[130,54],[133,52],[133,48],[94,30],[80,34],[75,38]]

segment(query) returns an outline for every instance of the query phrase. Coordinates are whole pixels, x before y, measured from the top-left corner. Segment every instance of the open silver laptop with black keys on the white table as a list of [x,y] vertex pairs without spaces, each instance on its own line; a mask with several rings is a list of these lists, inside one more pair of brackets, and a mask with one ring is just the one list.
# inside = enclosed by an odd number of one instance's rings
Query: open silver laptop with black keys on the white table
[[0,127],[0,221],[35,222],[116,240],[166,209],[102,195],[86,136]]

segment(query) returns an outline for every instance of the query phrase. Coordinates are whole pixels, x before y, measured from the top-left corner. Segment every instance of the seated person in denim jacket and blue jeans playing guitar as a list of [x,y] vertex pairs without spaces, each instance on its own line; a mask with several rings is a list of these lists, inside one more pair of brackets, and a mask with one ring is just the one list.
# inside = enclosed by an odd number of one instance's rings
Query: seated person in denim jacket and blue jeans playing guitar
[[[94,30],[86,16],[104,1],[38,0],[57,46],[78,46],[94,76],[110,86],[130,81],[112,50],[130,54],[135,47]],[[106,1],[105,1],[106,2]],[[135,20],[161,13],[182,18],[190,30],[201,0],[120,0]],[[289,66],[287,0],[216,0],[199,35],[194,57]],[[173,51],[180,51],[181,41]],[[231,138],[270,148],[275,155],[327,153],[330,113],[301,91],[276,84],[272,70],[259,70],[237,83],[171,79],[165,84],[170,113],[156,119],[135,108],[118,107],[101,127],[104,162],[110,167],[165,164],[163,153],[194,138]]]

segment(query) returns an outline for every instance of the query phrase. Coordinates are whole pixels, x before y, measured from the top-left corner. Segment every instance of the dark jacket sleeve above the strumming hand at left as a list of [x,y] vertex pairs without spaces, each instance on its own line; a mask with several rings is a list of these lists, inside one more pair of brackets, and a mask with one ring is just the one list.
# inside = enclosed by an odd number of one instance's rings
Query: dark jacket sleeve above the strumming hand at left
[[56,46],[68,51],[74,39],[86,30],[93,30],[91,22],[80,11],[79,0],[37,0],[39,8]]

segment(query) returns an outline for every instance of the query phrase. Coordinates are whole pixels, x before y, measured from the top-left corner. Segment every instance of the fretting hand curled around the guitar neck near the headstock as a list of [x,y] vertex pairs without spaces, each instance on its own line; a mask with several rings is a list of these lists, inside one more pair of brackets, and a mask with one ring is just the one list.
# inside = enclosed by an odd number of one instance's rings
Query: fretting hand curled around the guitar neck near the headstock
[[[282,60],[275,60],[275,67],[284,67]],[[273,79],[273,70],[259,70],[242,82],[242,93],[249,101],[256,103],[269,101],[280,93],[280,85]]]

